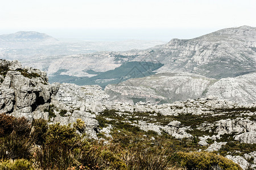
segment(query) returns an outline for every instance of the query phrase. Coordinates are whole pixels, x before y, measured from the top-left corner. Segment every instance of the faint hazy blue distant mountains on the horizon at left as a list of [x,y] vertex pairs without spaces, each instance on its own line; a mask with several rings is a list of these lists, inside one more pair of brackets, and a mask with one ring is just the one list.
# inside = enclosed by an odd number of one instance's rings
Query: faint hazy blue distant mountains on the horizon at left
[[86,41],[57,40],[45,33],[35,31],[19,31],[0,35],[0,57],[30,62],[38,57],[86,54],[112,50],[147,49],[164,44],[163,41]]

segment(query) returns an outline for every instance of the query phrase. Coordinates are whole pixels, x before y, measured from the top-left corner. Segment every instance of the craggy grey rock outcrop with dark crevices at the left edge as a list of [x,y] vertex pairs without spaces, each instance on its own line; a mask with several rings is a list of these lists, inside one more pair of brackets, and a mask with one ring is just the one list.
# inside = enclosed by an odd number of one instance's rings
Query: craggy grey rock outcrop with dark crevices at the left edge
[[22,67],[18,61],[0,60],[0,112],[31,114],[49,107],[57,87],[48,84],[46,72]]

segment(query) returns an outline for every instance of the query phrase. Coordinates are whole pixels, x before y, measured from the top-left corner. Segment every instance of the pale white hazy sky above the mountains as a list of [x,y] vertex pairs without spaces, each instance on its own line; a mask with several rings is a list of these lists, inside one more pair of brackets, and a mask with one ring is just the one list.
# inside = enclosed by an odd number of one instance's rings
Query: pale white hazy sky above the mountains
[[39,31],[88,40],[189,39],[256,27],[255,0],[3,0],[0,34]]

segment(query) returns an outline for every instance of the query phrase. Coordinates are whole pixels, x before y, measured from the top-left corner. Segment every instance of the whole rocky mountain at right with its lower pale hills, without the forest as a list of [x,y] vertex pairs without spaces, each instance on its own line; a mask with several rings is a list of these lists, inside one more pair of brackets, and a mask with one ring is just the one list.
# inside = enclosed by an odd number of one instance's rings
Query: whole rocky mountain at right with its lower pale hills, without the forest
[[174,102],[208,95],[254,103],[255,46],[256,28],[248,26],[221,29],[191,40],[174,39],[129,54],[137,56],[132,59],[135,61],[163,63],[156,70],[159,74],[110,84],[105,91],[113,101],[129,103]]

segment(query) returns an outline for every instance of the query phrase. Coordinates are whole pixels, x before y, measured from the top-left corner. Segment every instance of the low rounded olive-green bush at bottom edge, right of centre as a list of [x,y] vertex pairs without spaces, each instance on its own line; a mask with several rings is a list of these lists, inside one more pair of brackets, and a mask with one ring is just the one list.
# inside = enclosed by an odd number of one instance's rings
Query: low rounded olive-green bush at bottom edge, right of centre
[[227,170],[242,169],[238,164],[223,156],[209,152],[177,152],[172,155],[172,162],[187,169],[212,169],[218,167]]

